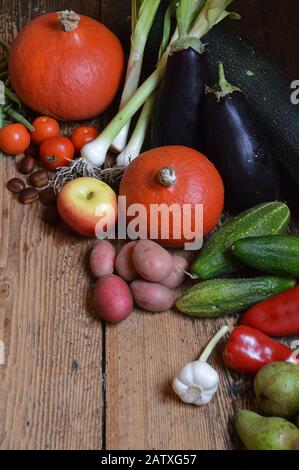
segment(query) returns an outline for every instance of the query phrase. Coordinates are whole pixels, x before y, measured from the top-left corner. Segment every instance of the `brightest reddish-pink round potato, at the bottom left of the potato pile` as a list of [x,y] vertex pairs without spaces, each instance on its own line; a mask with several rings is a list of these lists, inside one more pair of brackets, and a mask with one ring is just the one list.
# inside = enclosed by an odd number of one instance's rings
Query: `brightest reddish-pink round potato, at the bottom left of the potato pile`
[[100,277],[94,288],[93,303],[97,314],[109,323],[125,320],[133,310],[129,286],[114,274]]

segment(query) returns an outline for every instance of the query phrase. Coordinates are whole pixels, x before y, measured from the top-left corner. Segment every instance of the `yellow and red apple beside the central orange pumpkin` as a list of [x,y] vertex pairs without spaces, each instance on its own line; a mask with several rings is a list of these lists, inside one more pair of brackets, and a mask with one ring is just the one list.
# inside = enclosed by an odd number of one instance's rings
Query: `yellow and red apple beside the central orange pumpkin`
[[105,218],[107,229],[117,221],[117,196],[96,178],[77,178],[67,183],[57,199],[64,222],[79,235],[95,237],[97,224]]

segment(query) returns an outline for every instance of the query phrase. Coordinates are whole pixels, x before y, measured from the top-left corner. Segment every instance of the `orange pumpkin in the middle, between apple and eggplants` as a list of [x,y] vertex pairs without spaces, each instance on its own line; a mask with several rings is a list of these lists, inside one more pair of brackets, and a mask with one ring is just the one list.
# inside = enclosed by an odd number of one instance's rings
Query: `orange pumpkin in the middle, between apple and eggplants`
[[[120,185],[120,196],[126,196],[127,208],[142,204],[146,208],[148,238],[151,219],[150,205],[190,204],[192,230],[195,228],[195,205],[203,205],[203,232],[207,235],[217,224],[224,205],[224,186],[215,166],[201,153],[182,146],[161,147],[145,152],[126,170]],[[128,217],[131,221],[134,217]],[[182,219],[181,219],[182,220]],[[180,247],[190,240],[173,233],[173,217],[169,218],[169,239],[161,237],[158,220],[158,242],[164,246]]]

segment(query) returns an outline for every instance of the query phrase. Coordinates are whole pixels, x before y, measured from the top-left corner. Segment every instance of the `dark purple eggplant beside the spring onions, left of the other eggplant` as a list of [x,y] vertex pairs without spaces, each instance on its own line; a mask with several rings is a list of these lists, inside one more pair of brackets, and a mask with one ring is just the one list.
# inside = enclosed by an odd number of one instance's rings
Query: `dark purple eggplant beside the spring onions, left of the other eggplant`
[[[193,41],[194,42],[194,41]],[[208,81],[207,57],[203,45],[183,43],[168,58],[152,120],[152,145],[201,146],[202,109]]]

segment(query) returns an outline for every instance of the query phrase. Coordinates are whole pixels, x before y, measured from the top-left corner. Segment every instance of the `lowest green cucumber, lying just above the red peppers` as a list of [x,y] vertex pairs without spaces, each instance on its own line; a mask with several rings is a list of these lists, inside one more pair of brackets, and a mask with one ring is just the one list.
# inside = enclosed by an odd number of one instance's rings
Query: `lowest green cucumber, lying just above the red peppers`
[[296,281],[278,276],[215,279],[192,287],[177,300],[177,308],[192,317],[213,318],[239,313],[254,304],[295,287]]

